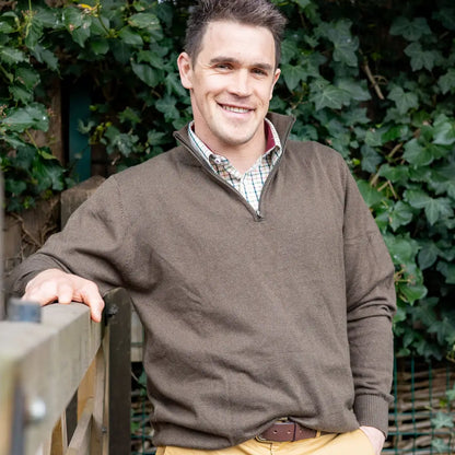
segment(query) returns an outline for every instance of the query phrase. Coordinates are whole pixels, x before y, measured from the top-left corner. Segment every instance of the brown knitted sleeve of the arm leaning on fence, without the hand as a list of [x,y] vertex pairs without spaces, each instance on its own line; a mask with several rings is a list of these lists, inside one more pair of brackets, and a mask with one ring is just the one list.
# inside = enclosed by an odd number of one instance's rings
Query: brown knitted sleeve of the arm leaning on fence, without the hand
[[95,281],[102,294],[121,287],[131,255],[131,236],[126,232],[121,197],[115,179],[109,178],[75,210],[63,231],[13,270],[9,293],[22,295],[26,283],[49,268]]

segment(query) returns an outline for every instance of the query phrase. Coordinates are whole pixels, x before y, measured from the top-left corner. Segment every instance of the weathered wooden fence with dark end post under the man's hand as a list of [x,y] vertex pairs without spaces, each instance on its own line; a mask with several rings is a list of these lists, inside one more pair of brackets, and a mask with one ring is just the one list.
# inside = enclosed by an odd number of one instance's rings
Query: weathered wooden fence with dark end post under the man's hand
[[0,322],[0,455],[130,453],[130,300],[105,303],[100,324],[79,303]]

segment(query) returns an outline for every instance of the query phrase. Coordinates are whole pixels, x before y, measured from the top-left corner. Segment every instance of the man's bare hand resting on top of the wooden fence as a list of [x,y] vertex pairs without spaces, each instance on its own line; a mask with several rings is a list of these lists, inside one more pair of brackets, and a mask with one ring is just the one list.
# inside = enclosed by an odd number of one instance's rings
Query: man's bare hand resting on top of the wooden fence
[[22,299],[39,302],[43,306],[52,302],[84,303],[90,307],[91,317],[96,323],[101,322],[104,308],[103,298],[93,281],[59,269],[48,269],[38,273],[27,283]]

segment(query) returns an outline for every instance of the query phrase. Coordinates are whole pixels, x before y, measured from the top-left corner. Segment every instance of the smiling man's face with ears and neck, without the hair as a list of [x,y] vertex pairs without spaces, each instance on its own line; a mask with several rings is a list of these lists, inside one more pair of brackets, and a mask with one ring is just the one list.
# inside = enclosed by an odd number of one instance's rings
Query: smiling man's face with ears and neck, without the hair
[[264,147],[264,118],[280,74],[267,28],[211,22],[195,63],[183,52],[178,67],[190,90],[196,133],[212,151]]

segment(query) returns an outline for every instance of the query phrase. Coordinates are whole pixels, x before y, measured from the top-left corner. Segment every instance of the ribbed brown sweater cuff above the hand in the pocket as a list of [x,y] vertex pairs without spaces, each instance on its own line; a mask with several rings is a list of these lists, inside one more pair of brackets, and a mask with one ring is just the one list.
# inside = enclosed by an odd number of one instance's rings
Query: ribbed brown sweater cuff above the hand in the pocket
[[388,434],[388,401],[377,395],[360,395],[355,398],[354,413],[360,425],[374,427]]

